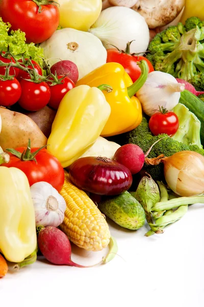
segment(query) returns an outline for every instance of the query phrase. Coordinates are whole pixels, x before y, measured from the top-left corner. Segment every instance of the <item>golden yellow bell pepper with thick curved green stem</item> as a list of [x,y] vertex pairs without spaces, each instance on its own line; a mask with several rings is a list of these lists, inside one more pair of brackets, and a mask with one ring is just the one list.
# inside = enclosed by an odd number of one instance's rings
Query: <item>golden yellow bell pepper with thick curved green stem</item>
[[134,95],[146,81],[148,66],[146,61],[140,62],[140,78],[133,83],[121,64],[111,62],[95,69],[77,82],[77,86],[87,84],[98,86],[108,83],[112,92],[104,92],[111,106],[111,115],[101,132],[101,136],[110,137],[136,128],[142,121],[142,107]]

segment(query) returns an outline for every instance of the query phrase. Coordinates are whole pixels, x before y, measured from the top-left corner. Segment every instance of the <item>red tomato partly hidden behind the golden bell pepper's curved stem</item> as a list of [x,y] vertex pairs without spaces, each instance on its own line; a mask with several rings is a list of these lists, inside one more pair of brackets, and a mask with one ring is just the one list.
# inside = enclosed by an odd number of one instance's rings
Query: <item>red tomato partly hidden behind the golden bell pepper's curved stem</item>
[[145,60],[147,62],[149,73],[154,72],[154,67],[152,66],[151,62],[144,56],[134,56],[131,54],[122,53],[117,49],[107,50],[107,63],[116,62],[121,64],[133,82],[135,82],[141,75],[141,69],[137,64],[137,62],[141,60]]

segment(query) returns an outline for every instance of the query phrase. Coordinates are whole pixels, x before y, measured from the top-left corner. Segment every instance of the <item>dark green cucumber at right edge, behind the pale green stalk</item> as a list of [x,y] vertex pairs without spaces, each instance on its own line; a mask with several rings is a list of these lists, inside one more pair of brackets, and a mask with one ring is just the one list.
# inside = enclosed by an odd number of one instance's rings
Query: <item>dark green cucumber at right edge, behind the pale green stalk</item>
[[200,142],[204,146],[204,102],[191,92],[185,90],[181,93],[180,103],[188,107],[200,121]]

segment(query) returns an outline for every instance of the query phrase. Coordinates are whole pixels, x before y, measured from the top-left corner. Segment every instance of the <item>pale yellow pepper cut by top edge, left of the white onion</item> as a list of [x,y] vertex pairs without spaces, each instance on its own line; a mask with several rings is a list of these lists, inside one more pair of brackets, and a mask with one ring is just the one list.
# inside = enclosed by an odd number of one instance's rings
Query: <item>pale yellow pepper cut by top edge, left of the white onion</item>
[[58,0],[60,26],[88,31],[102,9],[101,0]]

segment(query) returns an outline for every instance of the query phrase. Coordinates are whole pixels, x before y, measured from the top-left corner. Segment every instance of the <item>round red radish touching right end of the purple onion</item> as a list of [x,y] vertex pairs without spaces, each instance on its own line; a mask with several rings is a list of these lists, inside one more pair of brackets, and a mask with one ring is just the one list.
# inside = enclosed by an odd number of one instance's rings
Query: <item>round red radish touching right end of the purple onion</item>
[[119,147],[113,157],[113,160],[130,169],[132,174],[136,174],[142,169],[144,159],[144,152],[135,144],[126,144]]

